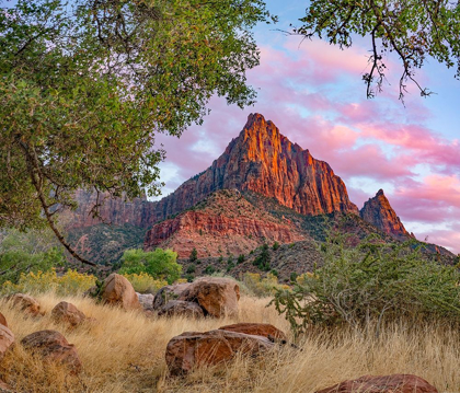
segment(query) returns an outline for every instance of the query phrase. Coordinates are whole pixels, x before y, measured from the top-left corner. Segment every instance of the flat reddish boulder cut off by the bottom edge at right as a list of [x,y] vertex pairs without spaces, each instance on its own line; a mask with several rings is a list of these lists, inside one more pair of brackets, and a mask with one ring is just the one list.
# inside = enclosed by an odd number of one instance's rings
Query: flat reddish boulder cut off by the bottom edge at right
[[438,393],[424,379],[411,374],[365,375],[337,383],[317,393]]

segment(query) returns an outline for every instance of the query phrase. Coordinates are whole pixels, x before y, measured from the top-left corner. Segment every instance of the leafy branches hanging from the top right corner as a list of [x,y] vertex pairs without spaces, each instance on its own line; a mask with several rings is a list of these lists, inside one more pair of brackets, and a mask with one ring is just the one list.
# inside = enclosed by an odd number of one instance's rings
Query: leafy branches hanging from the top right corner
[[419,89],[422,96],[432,92],[418,84],[415,71],[427,57],[456,66],[460,78],[460,8],[448,0],[313,0],[303,24],[294,30],[311,38],[319,36],[342,49],[350,47],[353,35],[370,37],[370,70],[363,76],[367,97],[381,92],[387,67],[384,56],[395,53],[402,62],[399,83],[404,100],[407,81]]

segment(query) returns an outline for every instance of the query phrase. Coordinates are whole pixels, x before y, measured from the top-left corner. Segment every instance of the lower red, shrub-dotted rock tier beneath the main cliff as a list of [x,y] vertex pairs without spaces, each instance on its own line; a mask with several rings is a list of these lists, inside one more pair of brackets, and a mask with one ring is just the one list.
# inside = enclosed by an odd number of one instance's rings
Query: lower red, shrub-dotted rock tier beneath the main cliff
[[198,257],[207,257],[246,254],[265,242],[284,244],[307,238],[292,222],[257,209],[238,190],[220,190],[193,210],[153,226],[143,248],[172,248],[179,257],[188,257],[196,248]]

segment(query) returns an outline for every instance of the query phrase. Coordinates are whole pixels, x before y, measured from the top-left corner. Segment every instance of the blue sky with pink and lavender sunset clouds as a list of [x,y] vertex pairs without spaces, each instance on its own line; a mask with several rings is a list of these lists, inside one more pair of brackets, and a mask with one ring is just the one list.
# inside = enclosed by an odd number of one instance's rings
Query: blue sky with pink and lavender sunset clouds
[[405,228],[417,239],[460,253],[460,81],[435,60],[417,80],[436,94],[424,99],[409,86],[398,100],[401,67],[388,59],[383,93],[366,99],[368,42],[341,50],[320,39],[301,42],[278,30],[304,15],[307,2],[267,1],[279,23],[258,25],[261,65],[248,72],[258,93],[252,107],[209,103],[203,126],[177,139],[160,136],[166,150],[160,165],[163,196],[206,170],[235,138],[248,115],[261,113],[292,142],[326,161],[359,208],[382,188]]

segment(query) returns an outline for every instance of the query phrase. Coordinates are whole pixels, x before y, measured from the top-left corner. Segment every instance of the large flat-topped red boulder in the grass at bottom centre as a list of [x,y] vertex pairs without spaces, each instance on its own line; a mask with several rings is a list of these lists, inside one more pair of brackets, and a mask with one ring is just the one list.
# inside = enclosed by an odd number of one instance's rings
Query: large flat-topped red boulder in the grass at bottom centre
[[269,339],[249,334],[210,331],[185,332],[173,337],[166,346],[166,365],[173,375],[184,374],[195,368],[229,361],[238,352],[255,356],[274,348]]

